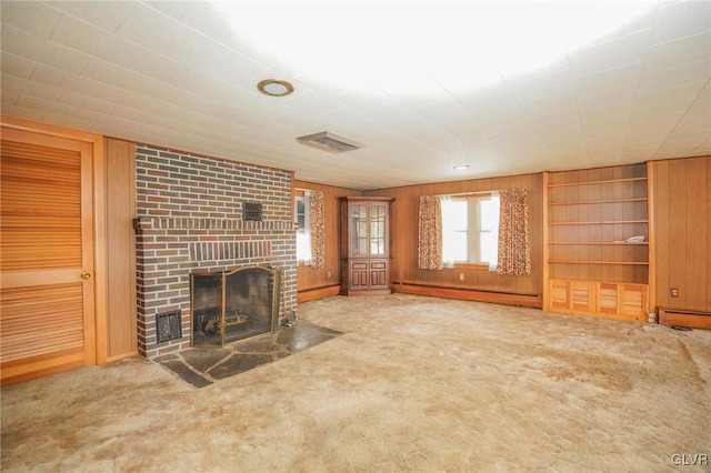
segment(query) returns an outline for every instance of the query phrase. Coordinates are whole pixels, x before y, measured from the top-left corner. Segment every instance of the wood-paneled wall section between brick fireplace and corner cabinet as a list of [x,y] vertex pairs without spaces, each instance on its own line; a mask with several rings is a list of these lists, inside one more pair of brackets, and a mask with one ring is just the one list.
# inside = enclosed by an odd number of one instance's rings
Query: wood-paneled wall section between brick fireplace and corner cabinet
[[[323,192],[323,207],[326,210],[326,262],[323,268],[306,266],[299,263],[297,269],[297,290],[299,293],[319,290],[323,288],[338,288],[341,284],[340,255],[339,255],[339,200],[346,195],[362,195],[362,192],[352,189],[337,188],[332,185],[314,184],[311,182],[296,181],[294,189]],[[300,296],[301,300],[301,296]]]

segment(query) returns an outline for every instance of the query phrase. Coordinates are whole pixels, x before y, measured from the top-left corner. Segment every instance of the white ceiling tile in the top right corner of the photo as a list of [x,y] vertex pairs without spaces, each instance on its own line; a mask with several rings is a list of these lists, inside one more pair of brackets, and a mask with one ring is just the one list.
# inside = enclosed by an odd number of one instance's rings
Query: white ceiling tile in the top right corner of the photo
[[711,2],[661,3],[651,37],[652,44],[701,33],[711,29]]

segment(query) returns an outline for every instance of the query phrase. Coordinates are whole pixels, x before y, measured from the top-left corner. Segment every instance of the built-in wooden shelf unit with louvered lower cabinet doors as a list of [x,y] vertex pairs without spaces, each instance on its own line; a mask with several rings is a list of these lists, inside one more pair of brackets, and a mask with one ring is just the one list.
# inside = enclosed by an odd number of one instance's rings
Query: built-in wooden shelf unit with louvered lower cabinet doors
[[647,320],[647,175],[645,163],[543,173],[545,310]]

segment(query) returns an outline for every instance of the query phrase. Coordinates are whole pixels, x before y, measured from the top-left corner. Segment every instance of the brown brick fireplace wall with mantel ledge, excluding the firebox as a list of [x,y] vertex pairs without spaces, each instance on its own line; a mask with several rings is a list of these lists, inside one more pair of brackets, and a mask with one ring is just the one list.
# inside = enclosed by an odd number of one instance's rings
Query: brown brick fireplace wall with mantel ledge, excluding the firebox
[[[148,145],[138,145],[136,154],[141,355],[153,358],[190,346],[190,274],[194,272],[253,264],[277,269],[279,316],[296,310],[291,171]],[[161,332],[159,342],[159,324],[168,321],[167,314],[174,321],[170,336]]]

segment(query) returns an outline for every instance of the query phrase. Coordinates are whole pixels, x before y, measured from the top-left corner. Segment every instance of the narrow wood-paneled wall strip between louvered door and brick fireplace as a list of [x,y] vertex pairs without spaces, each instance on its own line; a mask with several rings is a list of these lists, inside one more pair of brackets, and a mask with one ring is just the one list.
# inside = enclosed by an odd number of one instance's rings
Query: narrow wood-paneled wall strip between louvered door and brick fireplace
[[136,145],[106,140],[107,361],[138,354],[136,328]]

